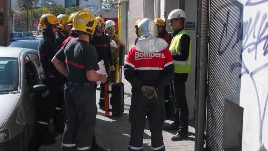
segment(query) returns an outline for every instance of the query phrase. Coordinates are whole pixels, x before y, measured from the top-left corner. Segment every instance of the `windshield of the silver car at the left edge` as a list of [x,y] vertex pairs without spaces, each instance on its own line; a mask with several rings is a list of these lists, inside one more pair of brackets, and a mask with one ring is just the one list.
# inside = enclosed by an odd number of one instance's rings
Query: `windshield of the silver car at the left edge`
[[0,57],[0,94],[17,91],[18,85],[18,58]]

